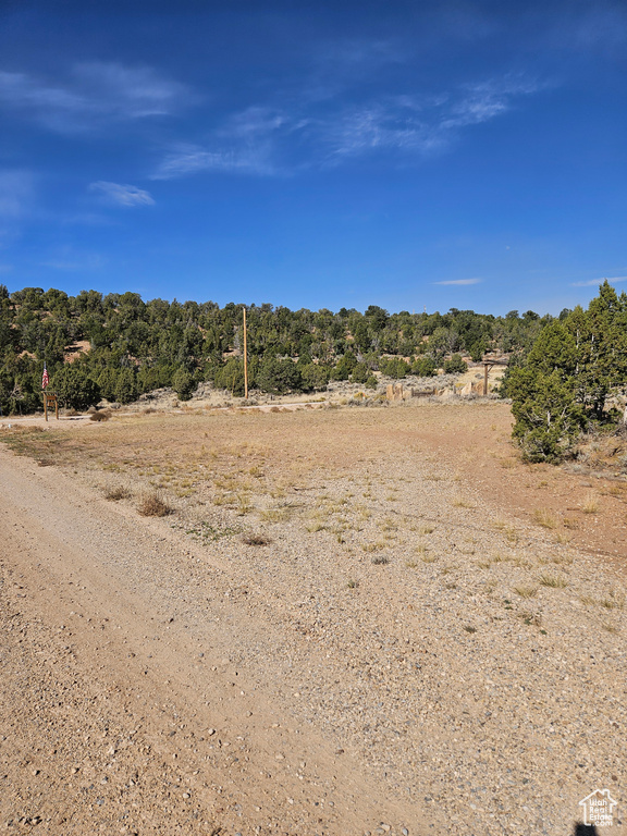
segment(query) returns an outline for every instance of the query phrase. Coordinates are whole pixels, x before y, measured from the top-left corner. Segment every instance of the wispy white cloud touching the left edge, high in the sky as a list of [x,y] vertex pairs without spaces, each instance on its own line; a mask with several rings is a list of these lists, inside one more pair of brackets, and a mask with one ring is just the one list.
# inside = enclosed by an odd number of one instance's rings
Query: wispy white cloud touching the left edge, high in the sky
[[60,133],[85,131],[112,119],[169,115],[192,100],[184,85],[149,66],[82,63],[61,83],[0,72],[0,106]]

